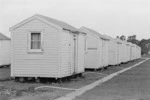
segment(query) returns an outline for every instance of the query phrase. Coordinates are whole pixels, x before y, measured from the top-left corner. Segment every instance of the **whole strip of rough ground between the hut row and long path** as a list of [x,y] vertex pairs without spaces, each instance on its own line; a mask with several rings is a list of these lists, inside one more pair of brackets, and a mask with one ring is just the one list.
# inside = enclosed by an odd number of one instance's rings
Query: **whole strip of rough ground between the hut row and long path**
[[[55,98],[58,98],[72,91],[62,89],[52,89],[52,88],[45,88],[39,89],[37,91],[31,91],[31,88],[39,86],[56,86],[56,87],[78,89],[105,77],[107,74],[111,74],[116,71],[122,70],[126,67],[130,67],[131,65],[134,65],[140,61],[142,61],[142,59],[132,61],[127,64],[121,64],[120,66],[110,66],[108,69],[105,69],[103,71],[97,71],[92,73],[86,72],[82,77],[72,78],[70,81],[64,81],[62,83],[35,83],[35,82],[19,83],[15,82],[14,80],[0,81],[0,85],[4,85],[4,88],[0,89],[0,91],[1,92],[7,91],[9,98],[18,98],[17,100],[19,100],[20,97],[21,100],[54,100]],[[0,75],[3,75],[4,77],[10,76],[9,69],[8,68],[2,69],[0,71]],[[2,79],[8,78],[10,77]]]

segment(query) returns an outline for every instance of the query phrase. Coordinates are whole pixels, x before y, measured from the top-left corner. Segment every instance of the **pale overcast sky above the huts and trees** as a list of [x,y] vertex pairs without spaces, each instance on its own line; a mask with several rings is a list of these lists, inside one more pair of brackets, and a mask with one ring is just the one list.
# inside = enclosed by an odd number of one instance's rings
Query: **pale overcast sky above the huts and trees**
[[150,38],[150,0],[0,0],[0,32],[10,37],[10,27],[34,14],[113,38]]

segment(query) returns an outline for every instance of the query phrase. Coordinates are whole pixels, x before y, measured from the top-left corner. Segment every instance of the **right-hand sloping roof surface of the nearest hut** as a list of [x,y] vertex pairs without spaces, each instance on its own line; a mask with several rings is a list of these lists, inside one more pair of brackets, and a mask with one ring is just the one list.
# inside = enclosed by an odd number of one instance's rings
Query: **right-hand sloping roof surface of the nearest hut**
[[37,16],[53,23],[53,24],[56,24],[60,27],[62,27],[64,30],[69,30],[69,31],[72,31],[72,32],[79,32],[79,30],[65,22],[62,22],[62,21],[59,21],[59,20],[56,20],[56,19],[53,19],[53,18],[50,18],[50,17],[47,17],[47,16],[43,16],[43,15],[39,15],[39,14],[36,14]]

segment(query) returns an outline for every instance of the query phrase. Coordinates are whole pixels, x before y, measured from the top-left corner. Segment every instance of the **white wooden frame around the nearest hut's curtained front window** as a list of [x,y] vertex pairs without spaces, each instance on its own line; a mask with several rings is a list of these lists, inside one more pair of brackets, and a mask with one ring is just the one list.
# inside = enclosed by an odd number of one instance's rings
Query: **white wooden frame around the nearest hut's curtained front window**
[[[41,48],[40,49],[31,49],[31,34],[40,33],[41,36]],[[30,31],[28,34],[28,52],[43,52],[43,33],[41,31]]]

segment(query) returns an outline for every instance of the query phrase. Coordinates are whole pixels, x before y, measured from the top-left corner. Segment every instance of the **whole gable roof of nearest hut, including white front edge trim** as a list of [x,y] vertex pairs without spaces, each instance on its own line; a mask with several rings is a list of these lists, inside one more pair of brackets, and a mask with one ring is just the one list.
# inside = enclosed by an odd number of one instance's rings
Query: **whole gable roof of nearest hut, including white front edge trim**
[[[61,27],[63,30],[68,30],[68,31],[72,31],[72,32],[79,32],[79,30],[77,28],[69,25],[68,23],[59,21],[57,19],[53,19],[53,18],[50,18],[50,17],[47,17],[47,16],[43,16],[43,15],[39,15],[39,14],[35,14],[32,17],[30,17],[30,18],[34,18],[34,17],[38,17],[38,18],[40,18],[40,19],[42,19],[44,21],[47,21],[49,23],[53,23],[54,25],[57,25],[57,26]],[[28,21],[28,19],[22,21],[21,23],[23,23],[25,21]],[[19,24],[21,24],[21,23],[19,23]],[[17,26],[17,25],[15,25],[15,26]],[[15,26],[11,27],[10,30],[16,28]]]

